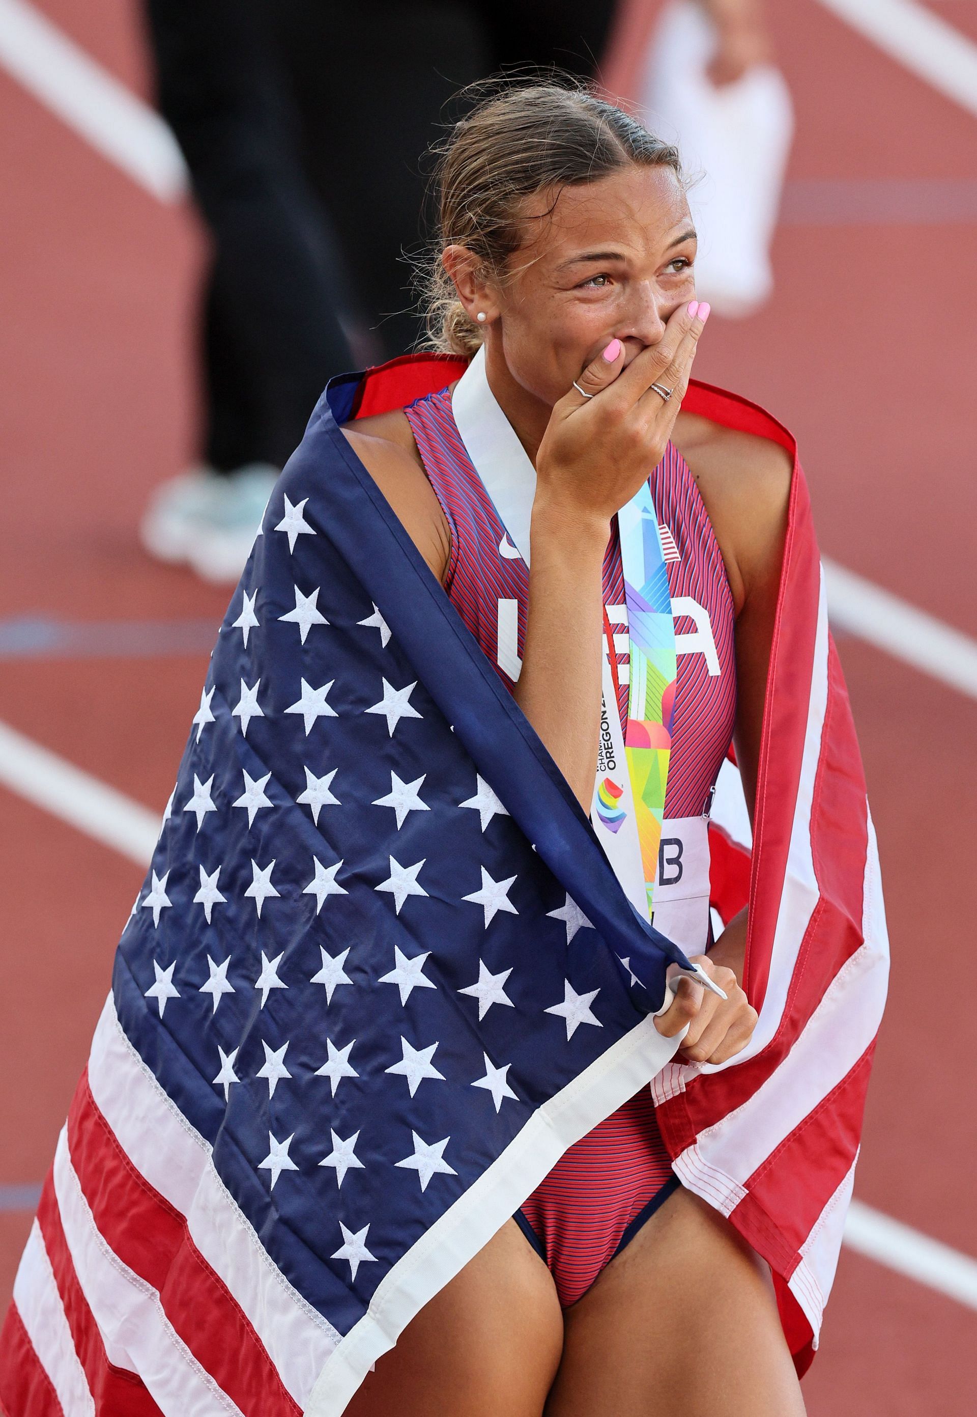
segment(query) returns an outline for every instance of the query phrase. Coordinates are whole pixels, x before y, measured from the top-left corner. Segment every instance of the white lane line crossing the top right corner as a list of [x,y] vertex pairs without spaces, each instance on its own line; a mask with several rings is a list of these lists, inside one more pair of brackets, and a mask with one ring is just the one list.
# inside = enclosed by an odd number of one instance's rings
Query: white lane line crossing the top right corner
[[977,118],[977,44],[916,0],[821,0],[896,62]]

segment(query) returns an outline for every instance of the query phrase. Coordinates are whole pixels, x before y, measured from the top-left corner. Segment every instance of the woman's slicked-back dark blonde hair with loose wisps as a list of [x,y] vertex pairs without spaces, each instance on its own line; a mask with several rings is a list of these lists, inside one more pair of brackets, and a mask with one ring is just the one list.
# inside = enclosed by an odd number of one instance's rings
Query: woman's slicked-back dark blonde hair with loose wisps
[[[571,78],[493,89],[483,91],[433,149],[438,230],[421,285],[428,347],[446,354],[474,354],[483,332],[442,266],[445,247],[466,247],[486,273],[504,279],[525,237],[525,198],[552,193],[548,215],[562,187],[598,181],[632,164],[671,167],[681,177],[677,147]],[[460,96],[466,94],[472,91]]]

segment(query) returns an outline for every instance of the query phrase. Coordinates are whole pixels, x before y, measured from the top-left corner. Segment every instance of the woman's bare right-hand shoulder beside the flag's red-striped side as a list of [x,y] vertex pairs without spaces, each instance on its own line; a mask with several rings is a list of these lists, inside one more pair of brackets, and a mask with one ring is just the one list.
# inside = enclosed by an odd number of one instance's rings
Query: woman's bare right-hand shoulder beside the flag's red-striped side
[[709,513],[739,611],[753,585],[779,578],[793,459],[769,438],[685,411],[673,441]]

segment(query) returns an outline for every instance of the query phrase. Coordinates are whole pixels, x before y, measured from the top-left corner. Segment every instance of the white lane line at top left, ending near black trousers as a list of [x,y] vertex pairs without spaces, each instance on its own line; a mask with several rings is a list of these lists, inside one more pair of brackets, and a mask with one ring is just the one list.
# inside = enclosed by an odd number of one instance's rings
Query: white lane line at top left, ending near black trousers
[[27,0],[0,0],[0,64],[153,197],[183,196],[187,169],[159,113]]

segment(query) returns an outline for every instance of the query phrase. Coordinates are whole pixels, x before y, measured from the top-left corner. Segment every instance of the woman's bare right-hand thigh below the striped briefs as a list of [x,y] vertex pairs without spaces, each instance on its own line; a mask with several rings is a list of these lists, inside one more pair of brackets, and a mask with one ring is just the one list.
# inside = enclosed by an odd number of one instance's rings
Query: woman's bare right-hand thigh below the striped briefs
[[687,1190],[564,1318],[547,1417],[803,1417],[769,1277]]

